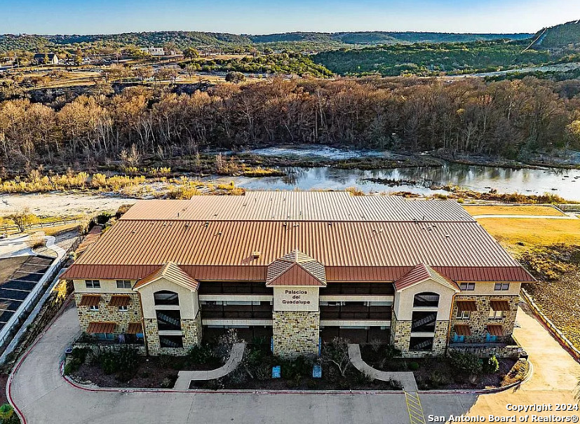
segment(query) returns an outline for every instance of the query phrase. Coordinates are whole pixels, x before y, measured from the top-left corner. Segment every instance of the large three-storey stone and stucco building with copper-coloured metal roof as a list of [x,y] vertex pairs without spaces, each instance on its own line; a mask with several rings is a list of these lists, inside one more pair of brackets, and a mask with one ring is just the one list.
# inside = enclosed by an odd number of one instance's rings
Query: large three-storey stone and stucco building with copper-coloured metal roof
[[454,201],[306,191],[140,201],[64,278],[97,340],[180,355],[234,327],[287,357],[335,336],[517,355],[533,280]]

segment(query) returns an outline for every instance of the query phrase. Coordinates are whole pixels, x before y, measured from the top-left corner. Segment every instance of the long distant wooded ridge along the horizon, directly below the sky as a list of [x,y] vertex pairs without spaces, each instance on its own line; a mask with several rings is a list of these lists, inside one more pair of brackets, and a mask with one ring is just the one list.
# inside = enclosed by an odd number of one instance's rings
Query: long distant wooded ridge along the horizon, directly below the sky
[[495,39],[521,40],[532,34],[447,34],[438,32],[288,32],[281,34],[245,35],[222,32],[157,31],[126,32],[93,35],[0,35],[0,51],[72,48],[74,45],[107,46],[163,46],[175,43],[179,48],[201,46],[269,46],[292,50],[328,50],[353,45],[386,45],[396,43],[447,43],[490,41]]

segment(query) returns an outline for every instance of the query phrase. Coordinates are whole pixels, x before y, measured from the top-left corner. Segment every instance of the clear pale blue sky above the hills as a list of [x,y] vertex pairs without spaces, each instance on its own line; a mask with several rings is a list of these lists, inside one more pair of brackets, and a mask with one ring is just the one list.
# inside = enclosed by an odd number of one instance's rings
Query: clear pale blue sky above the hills
[[579,0],[0,0],[0,34],[534,33],[578,19]]

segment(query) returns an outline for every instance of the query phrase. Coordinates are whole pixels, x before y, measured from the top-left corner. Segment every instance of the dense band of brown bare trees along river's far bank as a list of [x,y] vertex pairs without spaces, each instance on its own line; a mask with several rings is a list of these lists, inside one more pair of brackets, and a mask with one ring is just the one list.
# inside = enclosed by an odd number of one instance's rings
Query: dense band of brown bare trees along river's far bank
[[578,90],[571,94],[570,84],[272,78],[192,94],[135,86],[50,104],[13,99],[0,103],[0,163],[11,170],[79,169],[114,160],[163,163],[204,149],[302,143],[520,158],[579,148],[580,96]]

